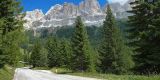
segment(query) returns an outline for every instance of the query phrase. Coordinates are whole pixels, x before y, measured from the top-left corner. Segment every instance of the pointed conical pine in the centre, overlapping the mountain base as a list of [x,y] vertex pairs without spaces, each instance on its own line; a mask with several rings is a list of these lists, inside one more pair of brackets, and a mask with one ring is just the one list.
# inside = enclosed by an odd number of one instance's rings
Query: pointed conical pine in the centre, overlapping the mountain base
[[77,17],[75,22],[75,30],[72,37],[72,64],[71,68],[76,71],[92,71],[93,64],[91,56],[91,47],[89,44],[87,31],[81,20]]

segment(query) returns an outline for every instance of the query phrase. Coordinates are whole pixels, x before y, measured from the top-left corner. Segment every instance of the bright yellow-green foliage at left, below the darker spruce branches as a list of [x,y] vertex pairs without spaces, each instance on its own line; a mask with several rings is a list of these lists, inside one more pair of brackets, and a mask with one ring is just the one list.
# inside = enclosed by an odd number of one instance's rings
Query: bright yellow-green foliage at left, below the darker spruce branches
[[17,63],[22,60],[22,54],[20,52],[20,44],[23,39],[23,34],[19,30],[8,33],[3,39],[3,52],[7,55],[7,63],[13,66],[17,66]]

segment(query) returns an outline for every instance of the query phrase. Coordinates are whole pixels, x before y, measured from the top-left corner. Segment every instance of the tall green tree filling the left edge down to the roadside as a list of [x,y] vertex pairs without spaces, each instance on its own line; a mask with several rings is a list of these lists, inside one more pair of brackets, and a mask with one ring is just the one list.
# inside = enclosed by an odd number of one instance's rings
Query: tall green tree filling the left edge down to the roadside
[[[3,63],[9,63],[14,66],[20,60],[20,35],[23,33],[23,15],[21,11],[22,8],[18,0],[0,1],[0,59],[2,58]],[[10,42],[10,40],[12,41]]]

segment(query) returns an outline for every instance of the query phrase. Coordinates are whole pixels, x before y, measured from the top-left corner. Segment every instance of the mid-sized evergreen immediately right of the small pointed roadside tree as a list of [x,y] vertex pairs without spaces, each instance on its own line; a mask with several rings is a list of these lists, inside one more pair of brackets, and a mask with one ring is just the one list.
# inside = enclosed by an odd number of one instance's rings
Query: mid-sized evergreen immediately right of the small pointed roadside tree
[[49,37],[46,43],[48,50],[48,65],[49,67],[60,67],[63,62],[60,53],[60,42],[56,37]]

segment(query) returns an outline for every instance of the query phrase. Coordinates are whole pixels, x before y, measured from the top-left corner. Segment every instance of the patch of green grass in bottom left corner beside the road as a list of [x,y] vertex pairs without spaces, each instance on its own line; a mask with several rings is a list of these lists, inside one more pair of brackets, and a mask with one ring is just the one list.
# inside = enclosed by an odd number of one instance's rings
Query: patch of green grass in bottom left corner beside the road
[[13,80],[14,68],[5,66],[0,69],[0,80]]

